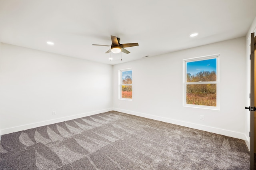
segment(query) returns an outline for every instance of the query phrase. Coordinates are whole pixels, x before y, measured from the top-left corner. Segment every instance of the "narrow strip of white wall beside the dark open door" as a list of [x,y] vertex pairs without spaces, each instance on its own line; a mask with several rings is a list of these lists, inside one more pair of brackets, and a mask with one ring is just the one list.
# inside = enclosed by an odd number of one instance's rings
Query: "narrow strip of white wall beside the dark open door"
[[[250,29],[248,30],[248,33],[246,35],[246,63],[245,63],[245,68],[246,68],[246,88],[245,88],[245,93],[246,93],[246,98],[245,98],[245,106],[248,107],[250,106],[250,43],[251,43],[251,33],[254,32],[256,35],[256,17],[254,18],[254,21],[252,22],[252,25],[250,26]],[[246,139],[245,142],[250,150],[250,137],[249,137],[249,132],[250,132],[250,111],[244,110],[244,115],[245,115],[245,135]]]

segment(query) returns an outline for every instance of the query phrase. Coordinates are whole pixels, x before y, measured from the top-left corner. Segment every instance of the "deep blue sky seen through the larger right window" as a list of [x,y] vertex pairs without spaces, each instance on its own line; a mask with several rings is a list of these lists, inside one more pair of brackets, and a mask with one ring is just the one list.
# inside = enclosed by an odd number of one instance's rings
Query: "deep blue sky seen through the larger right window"
[[216,72],[216,58],[187,62],[187,73],[194,75],[200,71]]

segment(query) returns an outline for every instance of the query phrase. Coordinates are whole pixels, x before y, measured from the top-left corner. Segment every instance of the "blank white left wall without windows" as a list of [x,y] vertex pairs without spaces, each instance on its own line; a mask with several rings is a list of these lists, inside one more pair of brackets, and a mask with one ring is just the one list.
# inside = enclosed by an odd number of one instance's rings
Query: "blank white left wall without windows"
[[112,110],[112,65],[6,43],[0,53],[2,134]]

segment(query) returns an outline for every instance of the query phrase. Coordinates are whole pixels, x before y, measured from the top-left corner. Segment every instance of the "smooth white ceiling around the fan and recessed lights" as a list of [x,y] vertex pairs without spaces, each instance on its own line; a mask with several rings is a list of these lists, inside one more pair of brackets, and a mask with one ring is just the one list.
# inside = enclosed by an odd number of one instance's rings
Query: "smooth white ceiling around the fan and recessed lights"
[[[256,0],[0,0],[0,42],[114,65],[245,36],[255,16]],[[111,35],[139,46],[110,61],[92,44]]]

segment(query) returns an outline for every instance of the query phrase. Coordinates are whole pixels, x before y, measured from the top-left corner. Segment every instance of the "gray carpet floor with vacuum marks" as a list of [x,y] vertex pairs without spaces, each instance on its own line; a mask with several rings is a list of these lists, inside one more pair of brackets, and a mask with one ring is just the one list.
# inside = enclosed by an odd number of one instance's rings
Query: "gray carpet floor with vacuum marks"
[[249,170],[244,140],[115,111],[5,134],[1,170]]

